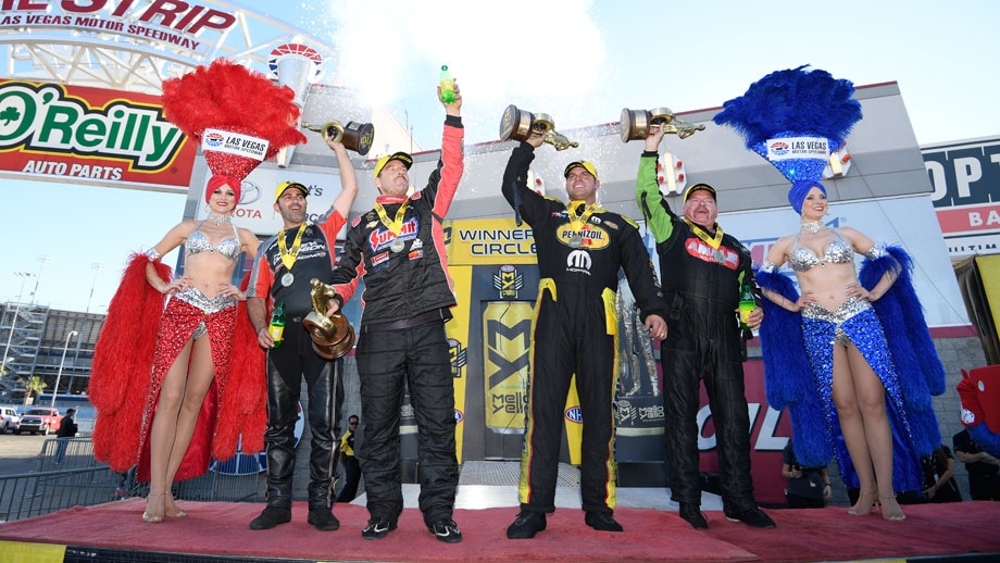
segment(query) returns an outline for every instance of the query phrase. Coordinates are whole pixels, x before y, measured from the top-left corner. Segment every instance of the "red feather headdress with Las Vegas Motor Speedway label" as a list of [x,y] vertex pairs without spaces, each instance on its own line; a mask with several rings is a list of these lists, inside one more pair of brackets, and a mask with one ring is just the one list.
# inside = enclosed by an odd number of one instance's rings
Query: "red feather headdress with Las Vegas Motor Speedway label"
[[163,80],[161,96],[166,118],[202,145],[212,174],[239,180],[280,149],[305,142],[293,99],[291,88],[224,59]]

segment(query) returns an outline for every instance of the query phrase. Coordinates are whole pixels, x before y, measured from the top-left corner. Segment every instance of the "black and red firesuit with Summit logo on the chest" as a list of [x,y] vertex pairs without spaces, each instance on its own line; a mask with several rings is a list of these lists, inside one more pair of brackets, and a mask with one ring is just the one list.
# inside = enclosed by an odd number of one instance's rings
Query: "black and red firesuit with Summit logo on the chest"
[[[457,302],[441,222],[462,178],[463,130],[461,117],[448,115],[441,160],[427,186],[409,198],[378,196],[376,209],[353,220],[330,284],[345,295],[341,288],[349,290],[347,285],[363,276],[357,359],[365,424],[358,461],[368,513],[387,520],[390,529],[403,510],[399,417],[404,383],[418,427],[424,523],[451,520],[454,508],[454,380],[445,322]],[[401,228],[393,234],[380,215],[397,217],[403,205]]]

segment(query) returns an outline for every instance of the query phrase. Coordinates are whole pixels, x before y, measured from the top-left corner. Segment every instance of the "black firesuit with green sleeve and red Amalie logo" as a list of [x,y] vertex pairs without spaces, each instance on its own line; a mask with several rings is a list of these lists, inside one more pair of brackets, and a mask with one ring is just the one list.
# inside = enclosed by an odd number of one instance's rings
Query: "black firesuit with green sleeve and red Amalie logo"
[[[643,152],[639,161],[636,200],[657,239],[663,295],[670,308],[661,362],[671,498],[701,504],[697,416],[703,379],[715,425],[726,515],[754,509],[750,416],[735,313],[740,280],[757,291],[750,253],[727,234],[717,249],[712,248],[697,236],[697,225],[671,211],[657,184],[655,152]],[[717,224],[714,227],[721,232]]]

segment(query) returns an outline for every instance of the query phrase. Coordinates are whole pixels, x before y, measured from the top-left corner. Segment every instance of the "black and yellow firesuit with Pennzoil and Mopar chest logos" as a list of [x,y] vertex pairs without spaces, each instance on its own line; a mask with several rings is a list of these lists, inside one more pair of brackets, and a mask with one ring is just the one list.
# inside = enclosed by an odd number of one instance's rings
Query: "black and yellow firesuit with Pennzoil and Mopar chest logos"
[[521,454],[521,510],[543,514],[555,510],[560,431],[575,373],[584,421],[583,509],[611,514],[616,478],[612,401],[618,376],[618,270],[625,271],[643,321],[651,314],[664,316],[665,304],[638,226],[600,207],[567,205],[528,189],[534,159],[532,145],[515,148],[502,186],[511,207],[514,190],[520,192],[520,211],[534,230],[540,277]]

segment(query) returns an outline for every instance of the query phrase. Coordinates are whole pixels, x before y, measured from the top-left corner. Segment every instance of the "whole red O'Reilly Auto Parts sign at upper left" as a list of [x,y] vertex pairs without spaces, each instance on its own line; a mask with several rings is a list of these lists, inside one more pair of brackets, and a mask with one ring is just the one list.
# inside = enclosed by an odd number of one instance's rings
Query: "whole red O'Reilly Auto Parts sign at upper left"
[[0,175],[187,192],[195,152],[155,96],[0,80]]

